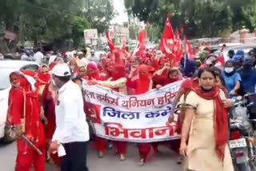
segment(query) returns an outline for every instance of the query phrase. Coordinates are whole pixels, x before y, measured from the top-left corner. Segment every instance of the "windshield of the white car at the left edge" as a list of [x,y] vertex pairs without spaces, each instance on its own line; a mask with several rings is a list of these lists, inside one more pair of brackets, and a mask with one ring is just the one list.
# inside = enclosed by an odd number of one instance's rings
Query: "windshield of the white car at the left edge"
[[7,89],[10,86],[9,75],[15,68],[0,68],[0,90]]

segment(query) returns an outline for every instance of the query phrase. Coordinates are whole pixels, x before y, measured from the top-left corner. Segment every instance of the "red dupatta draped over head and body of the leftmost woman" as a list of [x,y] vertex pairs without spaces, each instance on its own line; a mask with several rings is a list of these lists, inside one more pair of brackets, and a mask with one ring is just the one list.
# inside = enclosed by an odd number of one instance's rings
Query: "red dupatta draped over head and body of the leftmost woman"
[[32,91],[30,82],[25,76],[12,73],[10,82],[13,78],[17,79],[16,88],[12,88],[9,97],[9,114],[14,125],[20,124],[24,120],[25,135],[34,145],[41,146],[45,143],[43,126],[40,121],[40,107],[38,104],[38,93]]

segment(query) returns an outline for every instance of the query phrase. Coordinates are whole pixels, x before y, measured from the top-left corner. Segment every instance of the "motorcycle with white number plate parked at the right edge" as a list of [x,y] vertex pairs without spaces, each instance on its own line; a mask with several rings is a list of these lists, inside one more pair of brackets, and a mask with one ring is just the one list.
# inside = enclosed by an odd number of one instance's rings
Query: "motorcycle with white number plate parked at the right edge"
[[256,137],[256,120],[252,116],[254,113],[251,113],[254,102],[250,101],[250,97],[255,95],[248,93],[244,97],[235,97],[234,109],[230,113],[230,153],[234,169],[239,171],[256,170],[256,148],[248,140],[249,137]]

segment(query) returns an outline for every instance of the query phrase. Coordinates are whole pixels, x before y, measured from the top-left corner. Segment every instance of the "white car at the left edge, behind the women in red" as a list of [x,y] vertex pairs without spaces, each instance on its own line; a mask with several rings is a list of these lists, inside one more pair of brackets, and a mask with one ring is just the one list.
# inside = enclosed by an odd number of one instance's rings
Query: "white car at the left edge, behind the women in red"
[[9,75],[18,70],[33,70],[39,68],[35,62],[26,61],[0,61],[0,139],[3,141],[13,141],[14,135],[6,127],[6,115],[8,109],[8,98],[10,91]]

